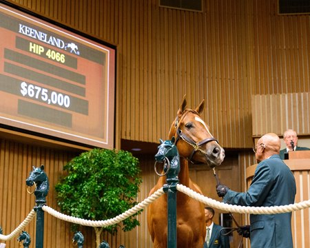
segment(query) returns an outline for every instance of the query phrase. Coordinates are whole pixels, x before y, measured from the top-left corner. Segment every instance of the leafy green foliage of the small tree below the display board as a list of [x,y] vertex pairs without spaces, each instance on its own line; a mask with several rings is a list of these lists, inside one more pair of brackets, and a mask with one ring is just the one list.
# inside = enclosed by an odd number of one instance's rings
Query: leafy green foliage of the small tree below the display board
[[[92,149],[73,158],[63,167],[68,174],[56,184],[61,211],[87,220],[107,220],[136,205],[141,184],[138,158],[123,150]],[[123,220],[123,231],[130,231],[138,220]],[[105,227],[112,234],[119,224]]]

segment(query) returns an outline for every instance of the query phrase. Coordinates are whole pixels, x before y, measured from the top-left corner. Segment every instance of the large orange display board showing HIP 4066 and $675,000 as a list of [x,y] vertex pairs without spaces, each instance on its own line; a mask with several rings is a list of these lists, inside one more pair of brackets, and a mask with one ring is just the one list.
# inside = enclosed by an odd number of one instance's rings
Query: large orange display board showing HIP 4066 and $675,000
[[114,46],[3,3],[0,37],[0,124],[114,147]]

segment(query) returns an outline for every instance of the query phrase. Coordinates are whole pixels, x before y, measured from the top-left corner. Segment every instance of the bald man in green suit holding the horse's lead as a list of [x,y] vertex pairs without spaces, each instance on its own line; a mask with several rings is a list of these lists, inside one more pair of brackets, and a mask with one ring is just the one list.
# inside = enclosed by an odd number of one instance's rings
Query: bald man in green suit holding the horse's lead
[[[234,192],[225,185],[216,185],[218,196],[225,203],[251,207],[293,204],[296,183],[291,170],[280,159],[280,138],[269,133],[262,136],[254,149],[258,161],[254,178],[247,192]],[[291,213],[250,214],[251,248],[293,248]]]

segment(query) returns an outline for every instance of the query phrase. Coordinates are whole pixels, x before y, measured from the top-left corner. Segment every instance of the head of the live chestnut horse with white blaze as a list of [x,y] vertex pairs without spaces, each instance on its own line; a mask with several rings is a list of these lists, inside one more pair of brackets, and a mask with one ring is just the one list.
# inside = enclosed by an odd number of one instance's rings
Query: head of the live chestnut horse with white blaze
[[186,108],[186,99],[177,112],[170,128],[169,138],[176,138],[176,145],[181,157],[195,163],[207,163],[210,167],[220,165],[225,152],[209,131],[209,126],[200,117],[204,101],[195,110]]

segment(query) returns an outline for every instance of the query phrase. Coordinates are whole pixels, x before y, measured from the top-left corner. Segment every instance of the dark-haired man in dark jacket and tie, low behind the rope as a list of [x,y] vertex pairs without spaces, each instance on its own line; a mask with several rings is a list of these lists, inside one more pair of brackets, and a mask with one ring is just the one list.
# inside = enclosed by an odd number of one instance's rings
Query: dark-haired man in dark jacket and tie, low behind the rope
[[[214,209],[211,207],[205,207],[205,224],[207,226],[207,236],[205,238],[204,248],[229,248],[228,236],[220,234],[220,225],[216,225],[213,222]],[[209,230],[208,230],[209,229]],[[209,235],[208,235],[209,233]]]

